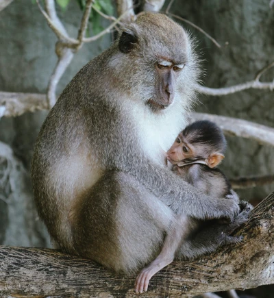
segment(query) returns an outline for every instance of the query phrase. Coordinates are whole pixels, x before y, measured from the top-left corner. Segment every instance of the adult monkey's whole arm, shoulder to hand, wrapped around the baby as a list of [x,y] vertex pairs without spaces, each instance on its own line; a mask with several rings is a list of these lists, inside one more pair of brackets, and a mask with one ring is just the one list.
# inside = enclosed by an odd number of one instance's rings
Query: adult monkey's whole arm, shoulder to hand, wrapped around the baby
[[[99,104],[99,103],[98,103]],[[97,105],[97,103],[92,103]],[[100,102],[100,105],[103,103]],[[101,111],[102,114],[100,114]],[[103,167],[128,173],[163,201],[177,214],[186,214],[198,219],[232,218],[238,213],[238,203],[234,199],[217,199],[204,195],[187,182],[182,181],[169,169],[149,158],[149,153],[138,140],[137,131],[131,119],[123,116],[123,110],[110,107],[109,103],[90,111],[91,146]],[[96,114],[95,114],[96,113]],[[96,119],[109,119],[108,126]],[[123,132],[123,133],[121,133]],[[106,138],[105,136],[111,136]],[[111,140],[111,141],[110,141]],[[96,147],[99,144],[99,147]]]

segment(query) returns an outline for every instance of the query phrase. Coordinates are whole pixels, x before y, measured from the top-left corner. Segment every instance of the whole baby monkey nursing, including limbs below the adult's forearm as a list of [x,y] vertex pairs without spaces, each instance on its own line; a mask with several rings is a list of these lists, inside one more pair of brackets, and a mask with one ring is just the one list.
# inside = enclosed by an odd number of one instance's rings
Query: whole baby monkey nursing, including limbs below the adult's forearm
[[[188,125],[177,136],[167,151],[167,159],[173,164],[173,172],[189,184],[199,188],[203,193],[220,199],[231,196],[238,201],[238,195],[232,190],[227,177],[219,169],[214,169],[225,157],[225,149],[226,140],[221,129],[210,121],[197,121]],[[211,225],[211,227],[203,237],[206,237],[209,243],[212,241],[212,251],[221,244],[238,243],[239,237],[226,235],[219,238],[220,243],[218,241],[214,243],[216,239],[214,234],[217,234],[216,225],[223,224],[229,227],[229,223],[225,219],[201,221],[190,216],[178,216],[166,234],[160,255],[140,271],[135,283],[136,292],[146,291],[151,277],[164,266],[173,262],[178,250],[183,252],[182,256],[186,256],[186,258],[210,252],[210,248],[205,251],[201,245],[201,251],[194,255],[191,248],[184,244],[188,242],[189,237],[195,236],[198,230],[206,231],[206,225]],[[227,229],[227,234],[235,228]]]

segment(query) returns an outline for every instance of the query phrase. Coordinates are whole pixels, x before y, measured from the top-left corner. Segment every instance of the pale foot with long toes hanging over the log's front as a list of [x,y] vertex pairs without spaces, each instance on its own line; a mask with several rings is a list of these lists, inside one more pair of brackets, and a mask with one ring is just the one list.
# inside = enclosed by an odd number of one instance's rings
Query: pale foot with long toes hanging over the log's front
[[135,281],[135,292],[142,294],[142,292],[147,292],[149,287],[149,280],[155,273],[163,269],[168,264],[171,264],[173,260],[164,262],[163,260],[157,260],[157,258],[147,267],[142,269]]

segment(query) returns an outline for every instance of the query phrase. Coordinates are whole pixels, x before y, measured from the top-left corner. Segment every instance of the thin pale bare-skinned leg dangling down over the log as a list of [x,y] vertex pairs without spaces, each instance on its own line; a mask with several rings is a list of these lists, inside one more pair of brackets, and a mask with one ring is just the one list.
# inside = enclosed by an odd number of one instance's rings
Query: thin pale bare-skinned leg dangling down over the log
[[173,262],[177,249],[196,225],[197,221],[192,220],[189,216],[177,216],[177,221],[173,223],[171,229],[166,234],[164,245],[159,256],[155,258],[151,264],[142,269],[137,276],[135,282],[136,293],[147,291],[151,277]]

